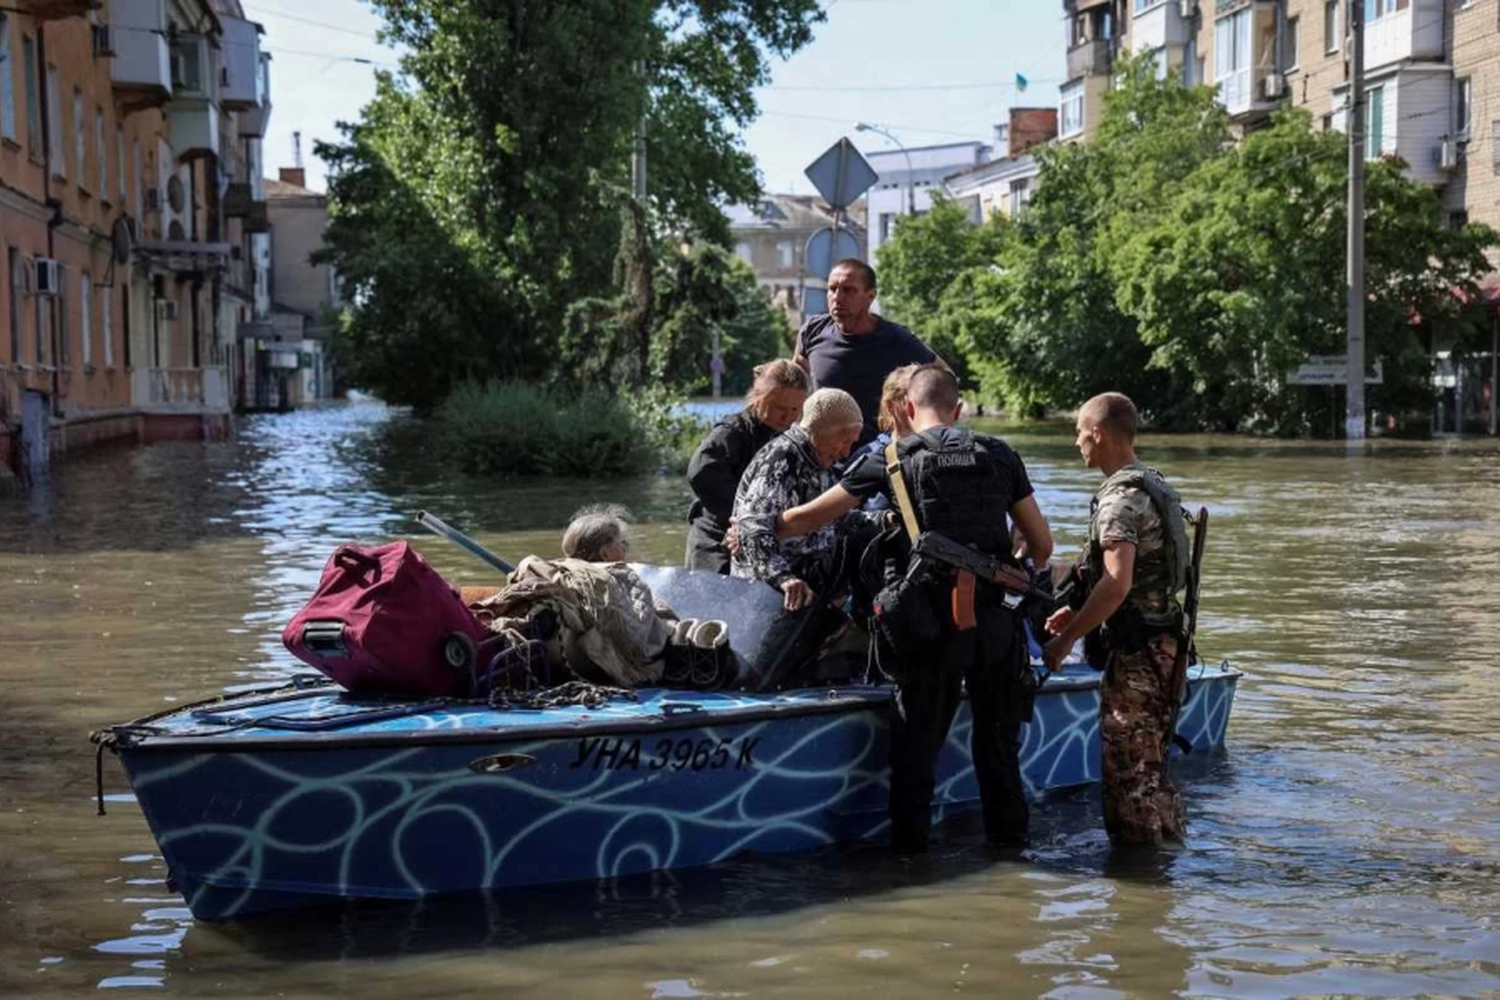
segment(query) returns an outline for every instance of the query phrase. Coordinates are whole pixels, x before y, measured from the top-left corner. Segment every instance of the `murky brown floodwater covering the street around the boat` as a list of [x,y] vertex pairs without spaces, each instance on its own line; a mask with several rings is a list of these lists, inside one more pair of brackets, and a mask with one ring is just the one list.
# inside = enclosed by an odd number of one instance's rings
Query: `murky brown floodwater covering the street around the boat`
[[[1016,429],[1064,549],[1095,474]],[[1035,850],[952,829],[874,846],[424,906],[195,924],[87,733],[296,670],[282,624],[333,546],[429,508],[512,558],[598,499],[676,561],[680,478],[450,474],[375,403],[237,441],[81,456],[0,501],[0,996],[848,997],[1500,994],[1500,445],[1148,439],[1212,511],[1202,646],[1246,672],[1226,754],[1184,762],[1182,850],[1108,850],[1095,796]]]

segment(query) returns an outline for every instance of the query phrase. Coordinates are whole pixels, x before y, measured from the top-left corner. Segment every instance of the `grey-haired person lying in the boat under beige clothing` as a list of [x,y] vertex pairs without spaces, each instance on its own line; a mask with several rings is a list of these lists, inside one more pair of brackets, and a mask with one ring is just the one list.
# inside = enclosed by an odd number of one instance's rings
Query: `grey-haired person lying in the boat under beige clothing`
[[640,687],[662,679],[676,615],[630,565],[630,511],[597,504],[576,511],[562,532],[562,559],[526,556],[508,585],[476,610],[495,631],[522,636],[538,612],[556,616],[554,660],[585,681]]

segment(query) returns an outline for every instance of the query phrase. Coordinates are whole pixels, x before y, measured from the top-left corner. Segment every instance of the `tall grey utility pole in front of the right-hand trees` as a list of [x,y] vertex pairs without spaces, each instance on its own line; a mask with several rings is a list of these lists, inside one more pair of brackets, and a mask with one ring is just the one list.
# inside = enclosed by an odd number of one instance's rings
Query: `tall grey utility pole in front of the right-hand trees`
[[1348,12],[1348,366],[1344,436],[1365,439],[1365,0]]

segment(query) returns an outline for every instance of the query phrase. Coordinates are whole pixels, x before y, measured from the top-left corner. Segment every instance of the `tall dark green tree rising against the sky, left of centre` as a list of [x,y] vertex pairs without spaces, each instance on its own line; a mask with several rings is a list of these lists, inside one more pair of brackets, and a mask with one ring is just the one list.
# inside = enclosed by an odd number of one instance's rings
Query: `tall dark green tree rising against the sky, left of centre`
[[[738,130],[816,0],[372,0],[399,73],[330,166],[324,258],[352,303],[351,375],[435,405],[468,379],[555,373],[578,303],[620,291],[633,135],[652,240],[724,241],[759,193]],[[588,324],[584,324],[588,325]]]

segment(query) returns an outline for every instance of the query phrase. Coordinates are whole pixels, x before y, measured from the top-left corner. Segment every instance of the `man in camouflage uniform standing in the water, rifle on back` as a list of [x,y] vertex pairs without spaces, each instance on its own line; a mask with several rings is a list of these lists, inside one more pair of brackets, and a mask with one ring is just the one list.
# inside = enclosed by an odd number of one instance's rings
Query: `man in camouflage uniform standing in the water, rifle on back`
[[1116,844],[1161,844],[1182,840],[1185,828],[1166,759],[1186,663],[1178,591],[1190,553],[1178,493],[1136,457],[1136,405],[1120,393],[1095,396],[1078,411],[1083,463],[1106,477],[1089,514],[1090,589],[1077,612],[1064,607],[1047,619],[1056,637],[1042,658],[1056,669],[1078,639],[1104,625],[1104,826]]

